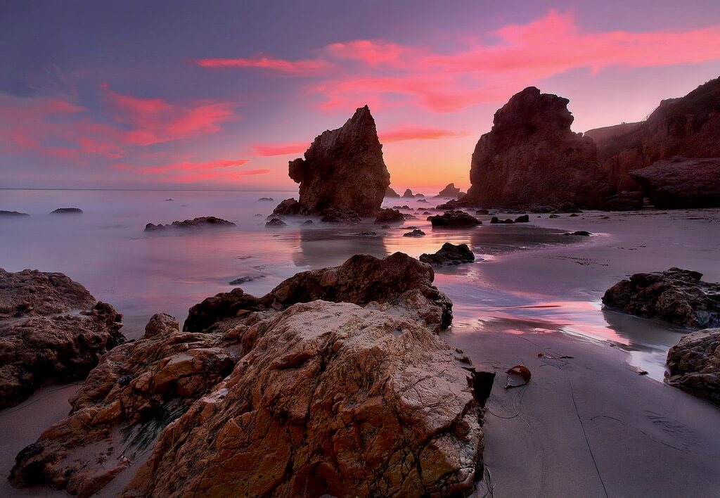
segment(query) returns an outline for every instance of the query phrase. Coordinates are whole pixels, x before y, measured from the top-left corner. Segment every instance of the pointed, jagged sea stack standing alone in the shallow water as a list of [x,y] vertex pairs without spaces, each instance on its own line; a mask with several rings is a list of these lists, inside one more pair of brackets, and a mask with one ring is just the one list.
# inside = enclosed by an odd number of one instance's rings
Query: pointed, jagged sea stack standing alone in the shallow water
[[325,131],[289,163],[290,178],[300,184],[300,213],[321,215],[328,208],[361,216],[380,209],[390,186],[375,120],[367,106],[356,110],[342,128]]

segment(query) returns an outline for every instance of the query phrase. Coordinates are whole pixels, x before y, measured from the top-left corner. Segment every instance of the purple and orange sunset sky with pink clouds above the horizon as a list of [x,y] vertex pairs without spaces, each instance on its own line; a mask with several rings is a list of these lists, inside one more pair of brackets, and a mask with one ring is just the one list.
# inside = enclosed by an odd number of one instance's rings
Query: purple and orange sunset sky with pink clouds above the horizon
[[367,104],[434,193],[526,86],[583,132],[720,76],[720,2],[0,0],[0,47],[0,187],[293,190]]

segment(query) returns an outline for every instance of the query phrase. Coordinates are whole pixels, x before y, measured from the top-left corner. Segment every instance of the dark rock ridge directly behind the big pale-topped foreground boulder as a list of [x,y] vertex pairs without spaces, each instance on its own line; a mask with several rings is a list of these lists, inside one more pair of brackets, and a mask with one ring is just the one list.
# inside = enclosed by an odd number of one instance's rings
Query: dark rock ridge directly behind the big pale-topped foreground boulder
[[[253,311],[284,309],[294,303],[323,300],[359,306],[402,308],[433,331],[452,321],[452,303],[434,285],[429,264],[396,252],[383,259],[356,254],[339,267],[301,272],[261,298],[235,288],[207,298],[189,310],[183,329],[201,332]],[[410,304],[412,303],[412,306]]]

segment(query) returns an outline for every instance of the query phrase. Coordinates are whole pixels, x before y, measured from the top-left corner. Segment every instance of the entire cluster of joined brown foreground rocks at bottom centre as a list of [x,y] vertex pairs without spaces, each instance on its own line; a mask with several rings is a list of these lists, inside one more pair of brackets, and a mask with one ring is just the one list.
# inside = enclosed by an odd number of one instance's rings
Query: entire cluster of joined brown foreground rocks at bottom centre
[[467,496],[482,477],[487,393],[433,334],[450,303],[432,280],[405,254],[355,256],[263,298],[208,298],[185,332],[153,316],[143,339],[103,357],[68,418],[19,453],[12,484],[81,496],[114,479],[132,479],[129,497]]

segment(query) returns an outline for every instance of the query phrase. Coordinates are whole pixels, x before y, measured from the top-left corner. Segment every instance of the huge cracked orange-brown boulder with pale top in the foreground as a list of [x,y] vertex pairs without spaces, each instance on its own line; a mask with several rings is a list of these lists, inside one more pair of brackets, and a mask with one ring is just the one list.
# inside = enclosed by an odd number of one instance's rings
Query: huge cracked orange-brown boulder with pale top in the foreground
[[351,303],[251,326],[228,378],[163,431],[125,496],[467,495],[472,380],[428,329]]

